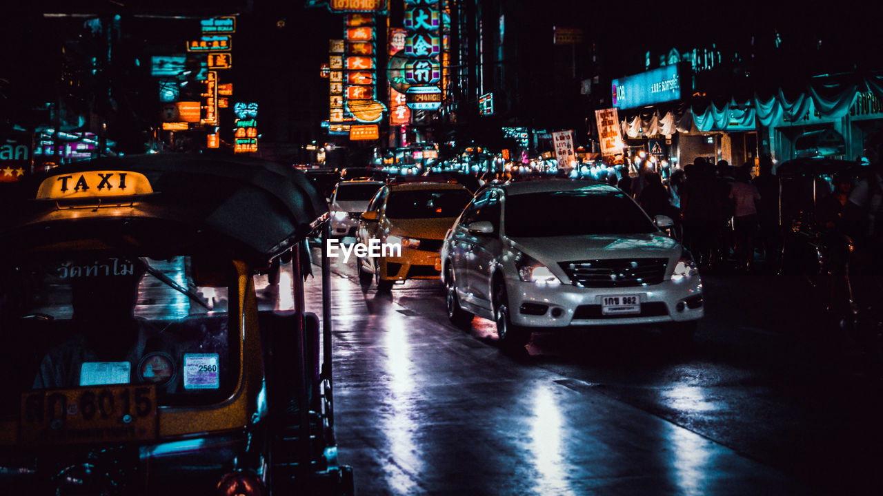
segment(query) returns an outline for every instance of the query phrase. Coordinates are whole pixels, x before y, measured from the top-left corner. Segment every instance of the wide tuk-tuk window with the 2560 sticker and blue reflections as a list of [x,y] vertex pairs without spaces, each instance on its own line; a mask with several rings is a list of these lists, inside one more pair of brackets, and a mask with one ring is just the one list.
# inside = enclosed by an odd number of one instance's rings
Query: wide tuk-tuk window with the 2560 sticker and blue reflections
[[7,261],[0,268],[3,413],[18,410],[20,395],[34,389],[102,385],[155,385],[161,405],[222,401],[239,365],[230,294],[235,289],[197,286],[185,256]]

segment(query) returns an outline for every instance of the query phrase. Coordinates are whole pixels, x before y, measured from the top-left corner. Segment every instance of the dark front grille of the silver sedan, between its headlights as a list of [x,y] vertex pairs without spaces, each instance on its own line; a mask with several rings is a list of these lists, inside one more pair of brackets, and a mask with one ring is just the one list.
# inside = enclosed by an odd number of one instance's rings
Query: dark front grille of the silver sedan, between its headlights
[[668,259],[598,259],[560,262],[564,274],[580,288],[621,288],[659,284]]

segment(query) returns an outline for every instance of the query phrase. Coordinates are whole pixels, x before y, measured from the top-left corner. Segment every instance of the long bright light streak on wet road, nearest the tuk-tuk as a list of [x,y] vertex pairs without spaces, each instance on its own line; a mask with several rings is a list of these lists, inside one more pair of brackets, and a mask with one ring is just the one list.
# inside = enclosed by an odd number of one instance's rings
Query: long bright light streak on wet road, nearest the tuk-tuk
[[389,374],[389,395],[385,398],[389,412],[381,415],[381,429],[389,443],[389,460],[397,461],[387,468],[386,476],[389,487],[397,494],[414,494],[419,489],[415,481],[423,471],[423,462],[420,447],[414,442],[419,419],[415,418],[417,406],[413,401],[416,387],[408,342],[410,334],[402,314],[389,312],[381,318],[386,329],[385,368]]

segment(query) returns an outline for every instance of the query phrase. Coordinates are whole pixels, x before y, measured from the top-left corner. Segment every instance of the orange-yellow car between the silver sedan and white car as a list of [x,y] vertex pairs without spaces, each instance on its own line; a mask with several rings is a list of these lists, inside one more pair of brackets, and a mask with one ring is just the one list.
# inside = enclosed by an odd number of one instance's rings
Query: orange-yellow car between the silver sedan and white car
[[437,279],[442,240],[471,200],[472,193],[460,184],[383,186],[358,222],[352,250],[363,287],[375,280],[385,291],[396,281]]

